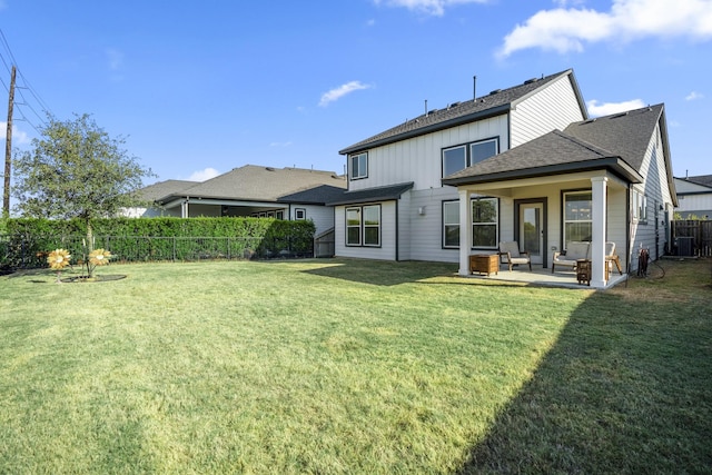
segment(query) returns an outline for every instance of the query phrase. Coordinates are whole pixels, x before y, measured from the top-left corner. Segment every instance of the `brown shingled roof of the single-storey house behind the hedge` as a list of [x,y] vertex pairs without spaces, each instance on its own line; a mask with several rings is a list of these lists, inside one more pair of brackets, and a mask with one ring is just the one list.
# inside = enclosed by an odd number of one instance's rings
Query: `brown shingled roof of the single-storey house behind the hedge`
[[333,171],[245,165],[192,187],[170,192],[158,201],[167,202],[184,197],[277,201],[285,195],[322,185],[345,188],[346,180]]

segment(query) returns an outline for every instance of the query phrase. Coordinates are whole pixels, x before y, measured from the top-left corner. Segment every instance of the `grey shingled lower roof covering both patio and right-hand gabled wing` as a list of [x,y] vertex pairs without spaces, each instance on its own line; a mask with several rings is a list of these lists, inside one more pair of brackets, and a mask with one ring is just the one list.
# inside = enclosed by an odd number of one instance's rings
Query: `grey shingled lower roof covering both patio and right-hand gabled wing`
[[[663,105],[573,122],[564,131],[554,130],[453,174],[443,184],[483,184],[601,168],[641,182],[643,159],[657,123],[664,129]],[[666,141],[663,146],[670,157]],[[670,160],[666,166],[672,181]]]

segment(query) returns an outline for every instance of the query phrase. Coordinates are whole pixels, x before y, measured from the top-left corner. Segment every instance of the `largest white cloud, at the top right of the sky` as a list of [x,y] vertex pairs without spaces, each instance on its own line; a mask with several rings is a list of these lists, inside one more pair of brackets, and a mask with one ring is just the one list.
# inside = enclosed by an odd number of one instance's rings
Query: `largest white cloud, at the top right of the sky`
[[584,43],[632,41],[646,37],[712,39],[712,1],[614,0],[607,12],[562,8],[542,10],[504,38],[498,56],[541,48],[560,53],[582,51]]

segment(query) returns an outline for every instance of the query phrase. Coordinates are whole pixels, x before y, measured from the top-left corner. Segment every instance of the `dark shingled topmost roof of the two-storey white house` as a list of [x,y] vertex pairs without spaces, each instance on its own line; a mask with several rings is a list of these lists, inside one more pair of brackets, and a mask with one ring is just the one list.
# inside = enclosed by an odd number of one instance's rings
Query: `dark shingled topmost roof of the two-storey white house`
[[586,107],[582,101],[572,69],[567,69],[555,75],[533,78],[524,81],[524,83],[511,87],[508,89],[497,89],[487,96],[463,102],[453,102],[445,109],[434,109],[423,113],[412,120],[407,120],[399,126],[393,127],[384,132],[375,135],[370,138],[362,140],[339,151],[342,155],[364,151],[368,148],[379,147],[408,138],[432,133],[437,130],[468,123],[487,117],[494,117],[508,112],[517,103],[528,98],[536,91],[547,87],[550,83],[562,77],[568,77],[578,98],[578,105],[583,117],[589,117]]

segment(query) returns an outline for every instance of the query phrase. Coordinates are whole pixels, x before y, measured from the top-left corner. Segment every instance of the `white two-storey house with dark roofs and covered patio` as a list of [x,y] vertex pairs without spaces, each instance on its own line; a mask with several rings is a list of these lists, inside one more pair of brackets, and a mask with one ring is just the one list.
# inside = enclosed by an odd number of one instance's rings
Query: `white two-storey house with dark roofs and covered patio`
[[[551,265],[605,241],[623,266],[639,244],[660,256],[676,204],[663,106],[589,119],[566,70],[428,111],[340,151],[348,190],[335,206],[336,255],[459,263],[517,240]],[[635,256],[633,256],[635,254]]]

